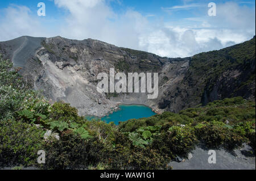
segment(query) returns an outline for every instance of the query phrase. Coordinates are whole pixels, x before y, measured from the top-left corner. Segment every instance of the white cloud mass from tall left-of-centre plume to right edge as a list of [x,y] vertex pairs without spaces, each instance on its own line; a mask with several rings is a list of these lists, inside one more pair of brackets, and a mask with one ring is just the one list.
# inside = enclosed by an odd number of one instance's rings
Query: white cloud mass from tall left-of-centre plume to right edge
[[[184,1],[184,6],[174,6],[169,10],[202,6],[196,3],[188,4],[189,2],[191,1]],[[192,56],[241,43],[255,34],[255,10],[240,7],[236,3],[217,5],[216,17],[188,18],[189,24],[193,24],[191,21],[197,21],[194,27],[180,26],[179,23],[176,26],[151,24],[147,16],[133,10],[117,15],[104,0],[95,1],[89,9],[87,7],[91,1],[55,0],[55,3],[70,12],[68,27],[65,26],[62,31],[65,37],[92,37],[160,56]]]

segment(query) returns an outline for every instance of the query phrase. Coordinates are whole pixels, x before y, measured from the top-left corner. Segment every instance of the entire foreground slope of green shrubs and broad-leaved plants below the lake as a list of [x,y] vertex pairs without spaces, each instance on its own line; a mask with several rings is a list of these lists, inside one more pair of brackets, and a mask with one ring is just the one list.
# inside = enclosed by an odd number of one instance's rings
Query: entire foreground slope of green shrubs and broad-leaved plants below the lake
[[[118,126],[88,121],[67,103],[50,104],[1,58],[0,142],[0,167],[171,169],[171,159],[199,143],[227,150],[246,143],[255,154],[255,102],[226,98]],[[37,163],[38,150],[46,164]]]

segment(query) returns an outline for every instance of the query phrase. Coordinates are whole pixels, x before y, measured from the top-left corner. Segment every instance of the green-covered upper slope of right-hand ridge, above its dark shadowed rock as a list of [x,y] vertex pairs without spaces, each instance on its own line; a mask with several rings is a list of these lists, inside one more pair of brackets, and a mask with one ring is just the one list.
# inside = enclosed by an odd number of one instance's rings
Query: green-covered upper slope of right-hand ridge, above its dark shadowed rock
[[[245,43],[234,45],[221,50],[204,52],[192,57],[191,73],[205,75],[207,80],[215,79],[225,70],[245,65],[250,66],[250,60],[255,61],[255,37]],[[255,72],[254,72],[255,74]]]

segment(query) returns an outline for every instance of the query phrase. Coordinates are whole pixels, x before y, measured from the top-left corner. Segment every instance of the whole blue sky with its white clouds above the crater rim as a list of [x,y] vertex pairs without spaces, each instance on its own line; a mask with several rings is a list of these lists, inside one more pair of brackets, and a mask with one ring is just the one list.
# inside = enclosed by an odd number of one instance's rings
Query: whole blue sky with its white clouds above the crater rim
[[[46,16],[38,16],[38,3]],[[216,3],[216,16],[208,3]],[[18,36],[98,39],[168,57],[186,57],[255,35],[251,0],[0,1],[0,41]]]

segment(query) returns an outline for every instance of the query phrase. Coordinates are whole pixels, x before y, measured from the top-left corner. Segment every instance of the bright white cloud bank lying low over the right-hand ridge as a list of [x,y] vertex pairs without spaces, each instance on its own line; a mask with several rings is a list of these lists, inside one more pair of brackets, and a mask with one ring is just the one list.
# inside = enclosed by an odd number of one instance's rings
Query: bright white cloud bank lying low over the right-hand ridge
[[164,26],[168,31],[158,30],[159,40],[166,39],[162,43],[155,45],[150,36],[144,35],[144,46],[162,56],[186,57],[241,43],[255,35],[255,9],[233,2],[218,4],[217,16],[192,17],[184,21],[190,26],[171,22]]

